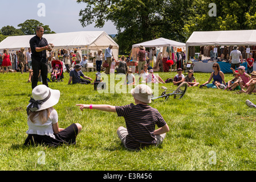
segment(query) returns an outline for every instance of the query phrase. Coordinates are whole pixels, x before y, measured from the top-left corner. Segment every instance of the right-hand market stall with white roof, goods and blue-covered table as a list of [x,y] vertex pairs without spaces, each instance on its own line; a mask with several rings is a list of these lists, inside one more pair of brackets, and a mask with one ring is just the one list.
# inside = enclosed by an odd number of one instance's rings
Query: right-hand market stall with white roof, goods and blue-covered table
[[[243,59],[249,52],[256,58],[256,30],[195,31],[186,42],[186,61],[195,55],[195,46],[200,46],[200,56],[194,63],[194,71],[212,72],[211,64],[218,62],[221,71],[230,72],[229,60],[233,46],[238,46]],[[247,67],[246,67],[247,68]],[[255,69],[254,69],[255,70]]]

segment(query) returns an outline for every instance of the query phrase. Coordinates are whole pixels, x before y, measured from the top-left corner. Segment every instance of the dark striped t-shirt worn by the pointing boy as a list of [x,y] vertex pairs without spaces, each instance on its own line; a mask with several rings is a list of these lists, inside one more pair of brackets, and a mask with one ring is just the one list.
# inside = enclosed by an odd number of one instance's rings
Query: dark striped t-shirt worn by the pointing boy
[[149,105],[116,106],[116,113],[125,119],[128,131],[125,146],[132,149],[156,144],[154,135],[156,125],[157,127],[166,125],[159,111]]

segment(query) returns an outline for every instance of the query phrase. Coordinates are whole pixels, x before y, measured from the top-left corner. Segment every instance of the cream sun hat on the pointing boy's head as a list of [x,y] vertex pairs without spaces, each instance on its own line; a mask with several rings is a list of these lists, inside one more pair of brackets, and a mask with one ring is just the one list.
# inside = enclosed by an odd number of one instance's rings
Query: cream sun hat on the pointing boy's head
[[137,85],[131,90],[131,94],[136,100],[144,103],[151,103],[152,89],[148,85]]

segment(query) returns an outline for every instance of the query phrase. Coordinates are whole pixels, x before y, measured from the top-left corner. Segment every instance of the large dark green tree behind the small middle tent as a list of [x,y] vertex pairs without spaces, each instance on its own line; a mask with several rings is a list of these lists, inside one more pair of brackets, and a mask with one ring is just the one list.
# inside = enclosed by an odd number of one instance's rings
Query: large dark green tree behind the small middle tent
[[[90,1],[80,11],[82,26],[95,22],[95,27],[103,27],[112,21],[118,31],[117,43],[121,51],[129,52],[132,44],[160,38],[184,40],[182,28],[184,18],[190,13],[187,6],[192,0],[122,0]],[[178,10],[176,10],[178,9]]]

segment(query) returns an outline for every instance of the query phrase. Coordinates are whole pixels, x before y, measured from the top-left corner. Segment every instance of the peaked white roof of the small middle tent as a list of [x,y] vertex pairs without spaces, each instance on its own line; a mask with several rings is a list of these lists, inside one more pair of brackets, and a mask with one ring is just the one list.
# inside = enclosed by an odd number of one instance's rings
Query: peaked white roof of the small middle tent
[[186,44],[177,42],[174,40],[159,38],[159,39],[149,40],[147,42],[132,45],[132,47],[139,47],[139,46],[144,46],[144,47],[165,47],[165,46],[185,47]]

